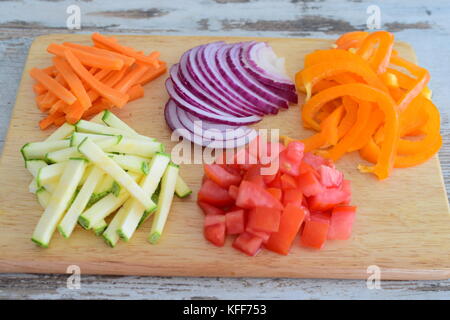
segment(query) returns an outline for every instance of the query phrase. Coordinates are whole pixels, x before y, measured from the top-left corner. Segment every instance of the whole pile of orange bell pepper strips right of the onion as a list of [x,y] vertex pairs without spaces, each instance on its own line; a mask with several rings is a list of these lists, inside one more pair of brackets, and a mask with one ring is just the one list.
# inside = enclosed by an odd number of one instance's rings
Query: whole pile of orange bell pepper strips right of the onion
[[427,87],[430,75],[401,58],[393,44],[386,31],[350,32],[334,49],[306,56],[295,82],[306,93],[303,125],[318,133],[302,140],[305,151],[332,160],[359,151],[375,164],[360,165],[360,171],[385,179],[393,167],[418,165],[439,150],[440,115]]

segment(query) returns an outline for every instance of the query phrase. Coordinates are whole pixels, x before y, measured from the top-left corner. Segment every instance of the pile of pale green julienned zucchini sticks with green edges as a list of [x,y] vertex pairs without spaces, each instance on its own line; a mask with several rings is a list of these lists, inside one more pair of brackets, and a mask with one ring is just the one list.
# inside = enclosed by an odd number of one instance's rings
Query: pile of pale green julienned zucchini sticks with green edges
[[[69,238],[77,222],[114,247],[129,241],[155,213],[148,240],[157,243],[174,193],[191,190],[164,145],[140,135],[110,111],[62,125],[42,142],[21,149],[33,175],[29,190],[45,209],[32,241],[48,247],[56,229]],[[106,218],[116,214],[109,224]]]

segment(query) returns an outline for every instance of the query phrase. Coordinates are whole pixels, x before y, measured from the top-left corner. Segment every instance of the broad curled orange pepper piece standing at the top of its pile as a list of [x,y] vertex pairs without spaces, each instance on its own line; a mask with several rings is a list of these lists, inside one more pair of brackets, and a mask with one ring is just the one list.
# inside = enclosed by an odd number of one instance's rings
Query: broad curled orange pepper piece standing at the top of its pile
[[377,74],[386,72],[391,59],[394,35],[387,31],[376,31],[367,36],[356,53],[369,61]]

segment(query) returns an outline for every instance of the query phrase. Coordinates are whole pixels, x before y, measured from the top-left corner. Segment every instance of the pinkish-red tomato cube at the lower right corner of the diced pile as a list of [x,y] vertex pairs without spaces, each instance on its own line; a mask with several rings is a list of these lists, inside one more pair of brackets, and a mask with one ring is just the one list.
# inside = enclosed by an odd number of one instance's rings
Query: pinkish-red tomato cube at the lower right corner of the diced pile
[[352,234],[353,222],[355,221],[356,207],[335,207],[331,214],[328,239],[347,240]]

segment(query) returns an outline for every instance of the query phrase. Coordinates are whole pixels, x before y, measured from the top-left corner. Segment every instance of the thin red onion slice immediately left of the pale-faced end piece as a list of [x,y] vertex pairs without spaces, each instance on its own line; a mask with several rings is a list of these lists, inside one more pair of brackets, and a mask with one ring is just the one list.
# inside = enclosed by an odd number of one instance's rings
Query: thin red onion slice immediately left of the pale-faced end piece
[[277,95],[273,90],[269,90],[266,86],[261,85],[258,80],[256,80],[242,65],[239,60],[239,53],[241,50],[241,45],[232,45],[229,47],[226,59],[230,65],[231,70],[234,72],[236,77],[242,81],[250,90],[264,97],[266,100],[273,102],[275,105],[288,108],[287,99],[282,96]]

